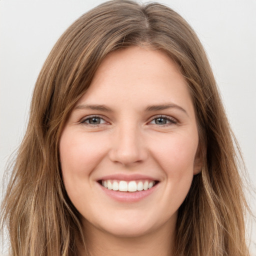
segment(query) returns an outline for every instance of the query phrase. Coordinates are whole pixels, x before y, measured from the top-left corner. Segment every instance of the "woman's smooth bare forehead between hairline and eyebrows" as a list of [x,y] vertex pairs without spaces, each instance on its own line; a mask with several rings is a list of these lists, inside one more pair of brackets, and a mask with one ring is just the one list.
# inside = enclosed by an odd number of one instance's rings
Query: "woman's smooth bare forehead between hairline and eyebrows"
[[169,102],[192,107],[186,80],[174,61],[162,51],[137,46],[105,57],[77,104],[84,101],[113,107]]

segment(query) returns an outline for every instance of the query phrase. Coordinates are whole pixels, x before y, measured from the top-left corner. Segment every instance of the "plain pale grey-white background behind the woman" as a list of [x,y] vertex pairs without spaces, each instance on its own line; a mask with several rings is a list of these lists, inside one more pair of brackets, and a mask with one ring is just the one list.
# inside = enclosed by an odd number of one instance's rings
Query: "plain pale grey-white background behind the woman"
[[[46,56],[77,17],[101,2],[0,0],[0,179],[24,134],[33,85]],[[255,186],[256,0],[158,2],[180,13],[203,43]],[[255,198],[250,204],[255,213]]]

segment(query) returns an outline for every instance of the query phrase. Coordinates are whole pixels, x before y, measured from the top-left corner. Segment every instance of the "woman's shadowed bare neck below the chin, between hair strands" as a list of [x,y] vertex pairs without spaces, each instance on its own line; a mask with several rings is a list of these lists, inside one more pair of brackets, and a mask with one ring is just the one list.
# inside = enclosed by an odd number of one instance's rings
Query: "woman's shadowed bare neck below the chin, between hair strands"
[[[89,256],[171,256],[174,229],[165,223],[147,234],[120,237],[86,223],[85,240]],[[79,256],[87,256],[82,246],[79,251]]]

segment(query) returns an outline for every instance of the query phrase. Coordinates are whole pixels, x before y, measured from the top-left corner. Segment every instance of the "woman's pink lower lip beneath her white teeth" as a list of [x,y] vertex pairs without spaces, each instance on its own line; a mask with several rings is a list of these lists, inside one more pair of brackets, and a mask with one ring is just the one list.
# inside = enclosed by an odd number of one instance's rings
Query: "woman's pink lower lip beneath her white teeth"
[[105,192],[109,197],[121,201],[121,202],[137,202],[141,199],[149,196],[152,192],[155,191],[158,183],[147,190],[135,191],[135,192],[122,192],[115,191],[105,188],[104,186],[98,185],[101,187],[102,191]]

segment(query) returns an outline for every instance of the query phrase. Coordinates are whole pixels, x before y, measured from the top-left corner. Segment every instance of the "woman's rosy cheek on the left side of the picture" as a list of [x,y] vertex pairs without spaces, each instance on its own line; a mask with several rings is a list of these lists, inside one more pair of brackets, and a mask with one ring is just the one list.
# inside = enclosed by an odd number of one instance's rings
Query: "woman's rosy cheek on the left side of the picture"
[[86,136],[83,132],[64,129],[59,141],[59,155],[66,192],[78,209],[83,212],[84,194],[91,194],[90,175],[105,155],[106,144],[100,136]]

